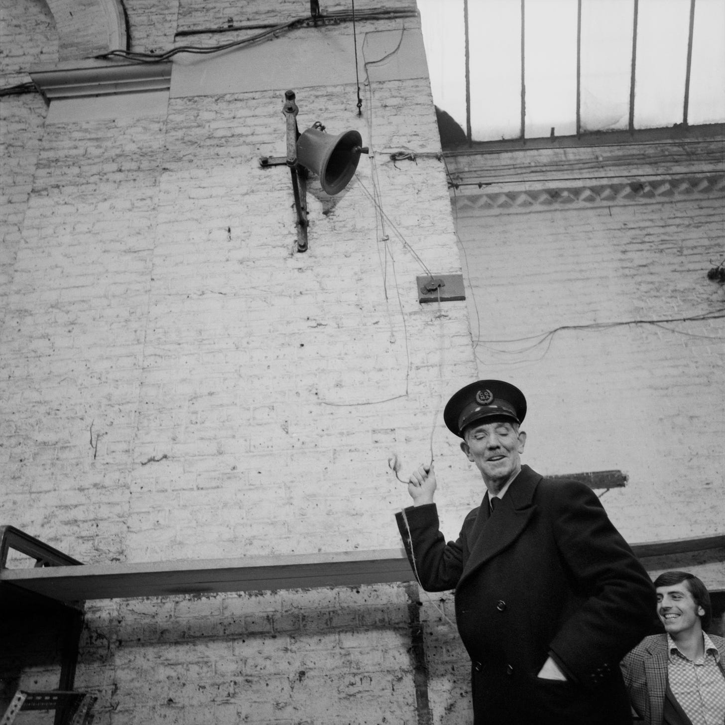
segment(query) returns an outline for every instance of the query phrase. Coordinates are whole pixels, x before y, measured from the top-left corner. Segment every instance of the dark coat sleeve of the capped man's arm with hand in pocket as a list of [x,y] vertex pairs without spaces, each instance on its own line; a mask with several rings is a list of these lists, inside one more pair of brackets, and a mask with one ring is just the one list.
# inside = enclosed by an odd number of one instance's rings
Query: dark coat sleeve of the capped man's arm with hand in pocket
[[549,494],[556,546],[581,601],[550,649],[584,687],[595,687],[648,634],[655,588],[588,486],[557,482]]

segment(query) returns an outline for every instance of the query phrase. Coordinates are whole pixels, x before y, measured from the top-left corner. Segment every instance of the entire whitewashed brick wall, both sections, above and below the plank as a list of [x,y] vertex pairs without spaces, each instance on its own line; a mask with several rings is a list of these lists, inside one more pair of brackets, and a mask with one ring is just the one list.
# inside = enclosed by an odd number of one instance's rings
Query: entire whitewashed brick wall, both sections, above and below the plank
[[[127,0],[132,48],[309,8],[257,5]],[[46,38],[0,58],[10,85],[46,60],[52,28],[34,4],[2,7],[18,38]],[[395,43],[419,35],[410,17],[359,22],[361,43],[368,30],[394,31]],[[351,35],[341,23],[315,38],[349,47]],[[425,67],[365,67],[358,116],[357,84],[314,59],[330,81],[296,86],[300,127],[357,128],[371,153],[334,198],[310,183],[310,249],[299,254],[289,172],[258,161],[285,153],[285,87],[249,90],[265,69],[250,73],[235,52],[240,88],[187,85],[144,114],[46,123],[38,96],[0,101],[12,169],[0,222],[0,523],[86,563],[397,547],[392,515],[407,494],[389,458],[406,478],[432,451],[455,537],[481,482],[440,411],[479,374],[526,391],[534,468],[629,473],[604,502],[633,540],[719,531],[725,426],[703,394],[718,374],[718,321],[689,335],[562,331],[525,353],[485,342],[721,307],[701,268],[721,244],[717,199],[483,222],[457,210],[473,294],[419,305],[416,276],[461,265]],[[181,57],[174,72],[189,65]],[[398,150],[416,157],[394,161]],[[632,415],[623,400],[637,401]],[[672,410],[689,427],[673,426]],[[99,696],[101,725],[458,725],[471,708],[452,618],[450,595],[405,585],[89,602],[76,684]],[[3,676],[11,666],[0,662]],[[12,687],[54,687],[57,674],[57,658],[33,662]]]

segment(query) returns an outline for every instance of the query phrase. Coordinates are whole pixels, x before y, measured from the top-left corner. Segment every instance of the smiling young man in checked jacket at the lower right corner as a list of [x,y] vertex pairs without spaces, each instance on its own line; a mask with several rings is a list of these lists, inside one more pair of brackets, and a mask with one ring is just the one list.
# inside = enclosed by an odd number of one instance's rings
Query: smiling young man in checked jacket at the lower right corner
[[645,725],[725,723],[725,639],[708,635],[710,595],[700,579],[666,571],[655,579],[665,631],[622,660],[632,707]]

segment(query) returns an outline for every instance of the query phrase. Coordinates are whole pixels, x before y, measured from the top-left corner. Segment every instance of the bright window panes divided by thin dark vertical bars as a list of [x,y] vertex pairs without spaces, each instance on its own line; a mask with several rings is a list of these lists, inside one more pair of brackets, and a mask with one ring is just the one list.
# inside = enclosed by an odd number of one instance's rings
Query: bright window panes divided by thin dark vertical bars
[[725,122],[725,0],[418,0],[418,8],[436,106],[473,141]]

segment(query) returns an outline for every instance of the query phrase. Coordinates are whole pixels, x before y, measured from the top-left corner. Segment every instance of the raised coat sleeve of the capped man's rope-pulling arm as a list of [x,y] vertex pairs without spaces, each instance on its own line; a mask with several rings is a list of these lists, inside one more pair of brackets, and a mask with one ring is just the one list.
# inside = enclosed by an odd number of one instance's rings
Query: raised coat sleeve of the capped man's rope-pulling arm
[[455,589],[463,571],[461,539],[446,543],[434,503],[410,506],[395,518],[415,578],[426,592]]

